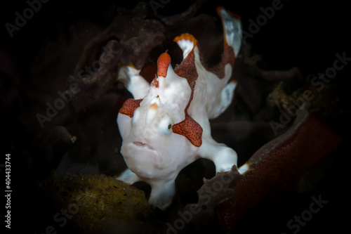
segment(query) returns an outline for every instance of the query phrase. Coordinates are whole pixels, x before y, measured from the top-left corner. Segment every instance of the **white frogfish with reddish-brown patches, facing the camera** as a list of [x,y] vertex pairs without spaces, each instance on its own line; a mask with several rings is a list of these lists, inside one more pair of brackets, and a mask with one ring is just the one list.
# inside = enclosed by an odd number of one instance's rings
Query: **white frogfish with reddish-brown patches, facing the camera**
[[161,209],[173,201],[176,177],[188,164],[206,158],[214,162],[217,172],[237,164],[237,153],[213,140],[208,121],[232,102],[236,84],[228,81],[241,46],[240,20],[223,7],[217,13],[224,49],[216,69],[201,62],[197,40],[185,33],[174,39],[183,50],[182,63],[173,70],[171,56],[162,53],[151,84],[133,66],[118,72],[134,99],[126,100],[117,116],[121,154],[128,166],[117,179],[150,184],[149,202]]

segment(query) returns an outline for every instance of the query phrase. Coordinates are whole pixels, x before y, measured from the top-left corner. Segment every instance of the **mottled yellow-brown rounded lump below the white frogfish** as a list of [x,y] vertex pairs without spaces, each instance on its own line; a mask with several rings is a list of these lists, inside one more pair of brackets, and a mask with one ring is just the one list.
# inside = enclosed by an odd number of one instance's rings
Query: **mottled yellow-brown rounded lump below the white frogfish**
[[70,174],[51,178],[48,184],[72,214],[70,224],[81,233],[141,229],[148,223],[150,204],[143,191],[115,178]]

